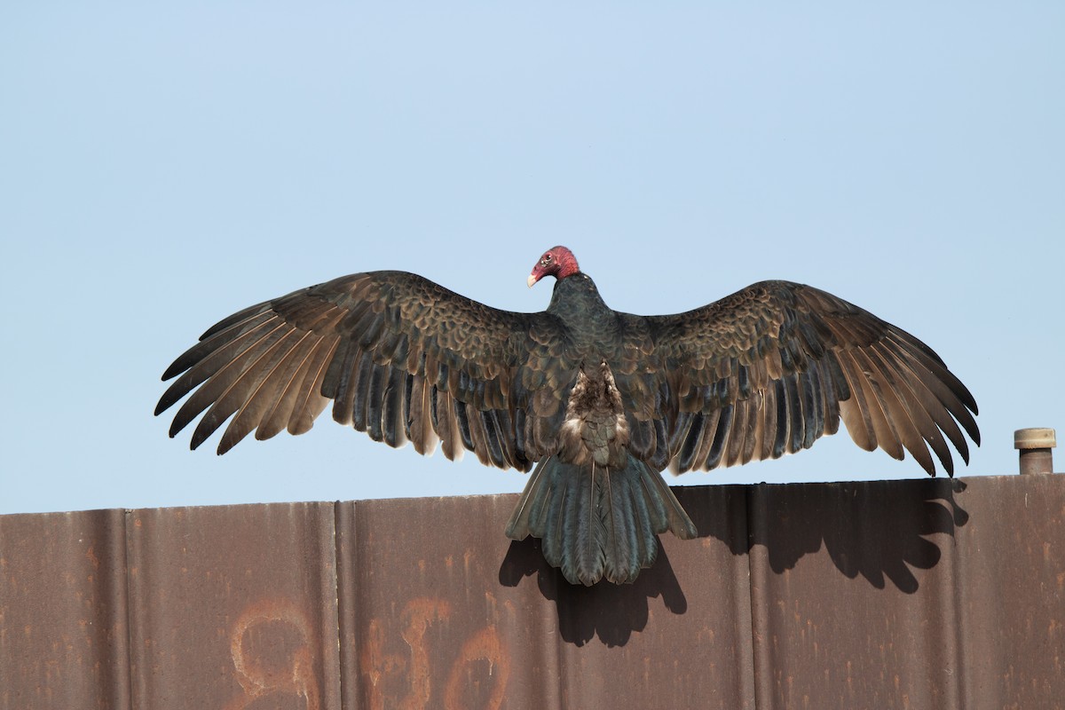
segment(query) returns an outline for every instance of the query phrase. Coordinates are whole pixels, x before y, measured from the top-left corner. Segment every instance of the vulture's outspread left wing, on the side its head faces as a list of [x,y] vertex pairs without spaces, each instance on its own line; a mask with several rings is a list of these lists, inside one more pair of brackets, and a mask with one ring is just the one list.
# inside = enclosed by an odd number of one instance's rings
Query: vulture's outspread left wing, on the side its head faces
[[553,451],[576,370],[564,328],[546,313],[512,313],[402,271],[342,277],[234,313],[163,375],[177,377],[160,414],[192,393],[176,435],[203,413],[199,446],[229,420],[228,451],[252,431],[269,439],[333,418],[420,453],[438,441],[482,463],[527,470]]

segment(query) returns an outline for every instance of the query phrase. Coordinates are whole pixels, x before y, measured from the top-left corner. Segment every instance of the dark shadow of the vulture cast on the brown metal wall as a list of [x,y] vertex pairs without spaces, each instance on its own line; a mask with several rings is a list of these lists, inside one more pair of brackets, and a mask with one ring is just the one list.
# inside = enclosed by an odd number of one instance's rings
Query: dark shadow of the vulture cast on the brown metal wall
[[[766,563],[773,574],[792,569],[807,555],[826,554],[849,579],[862,577],[883,590],[888,583],[916,594],[915,571],[939,563],[943,552],[929,535],[953,536],[968,523],[955,495],[965,482],[952,479],[843,483],[702,485],[673,489],[699,529],[699,536],[717,539],[733,556],[749,556],[748,564]],[[723,550],[697,541],[668,540],[683,571],[682,578],[720,566]],[[756,547],[763,550],[752,550]],[[536,575],[544,598],[555,602],[564,641],[584,645],[596,635],[608,646],[623,646],[633,632],[643,631],[650,599],[661,597],[673,614],[688,611],[688,599],[667,550],[632,584],[601,581],[575,587],[550,566],[540,541],[513,542],[499,567],[499,582],[518,587]],[[704,597],[705,591],[693,591]]]

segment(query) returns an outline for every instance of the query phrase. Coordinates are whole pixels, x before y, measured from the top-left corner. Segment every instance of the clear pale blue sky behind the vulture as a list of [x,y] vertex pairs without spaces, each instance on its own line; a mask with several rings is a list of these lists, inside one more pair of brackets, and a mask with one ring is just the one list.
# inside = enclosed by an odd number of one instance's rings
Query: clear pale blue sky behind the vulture
[[[0,513],[519,491],[333,424],[225,457],[151,412],[223,316],[355,271],[543,309],[784,278],[921,337],[1013,430],[1065,430],[1065,5],[6,3]],[[1065,467],[1059,456],[1058,468]],[[922,477],[849,436],[679,483]]]

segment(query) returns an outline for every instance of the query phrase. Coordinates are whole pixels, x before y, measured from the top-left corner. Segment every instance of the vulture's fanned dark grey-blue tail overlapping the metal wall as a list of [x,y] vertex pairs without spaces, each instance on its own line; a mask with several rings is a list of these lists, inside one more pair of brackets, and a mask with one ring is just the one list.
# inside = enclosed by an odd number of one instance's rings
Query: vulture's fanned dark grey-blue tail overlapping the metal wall
[[666,481],[628,457],[624,468],[540,461],[507,524],[507,536],[543,541],[548,564],[571,584],[632,582],[658,554],[655,535],[694,538],[695,526]]

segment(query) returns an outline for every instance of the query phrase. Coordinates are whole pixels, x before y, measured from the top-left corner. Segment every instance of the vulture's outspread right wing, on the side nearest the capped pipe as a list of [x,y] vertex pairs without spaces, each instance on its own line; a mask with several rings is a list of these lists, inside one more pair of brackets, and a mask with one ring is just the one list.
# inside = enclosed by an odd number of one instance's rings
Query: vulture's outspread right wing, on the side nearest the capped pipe
[[980,444],[976,400],[930,347],[823,291],[766,281],[644,320],[674,472],[799,451],[840,418],[862,448],[907,450],[930,475],[929,449],[953,475],[946,442],[966,463],[962,429]]

